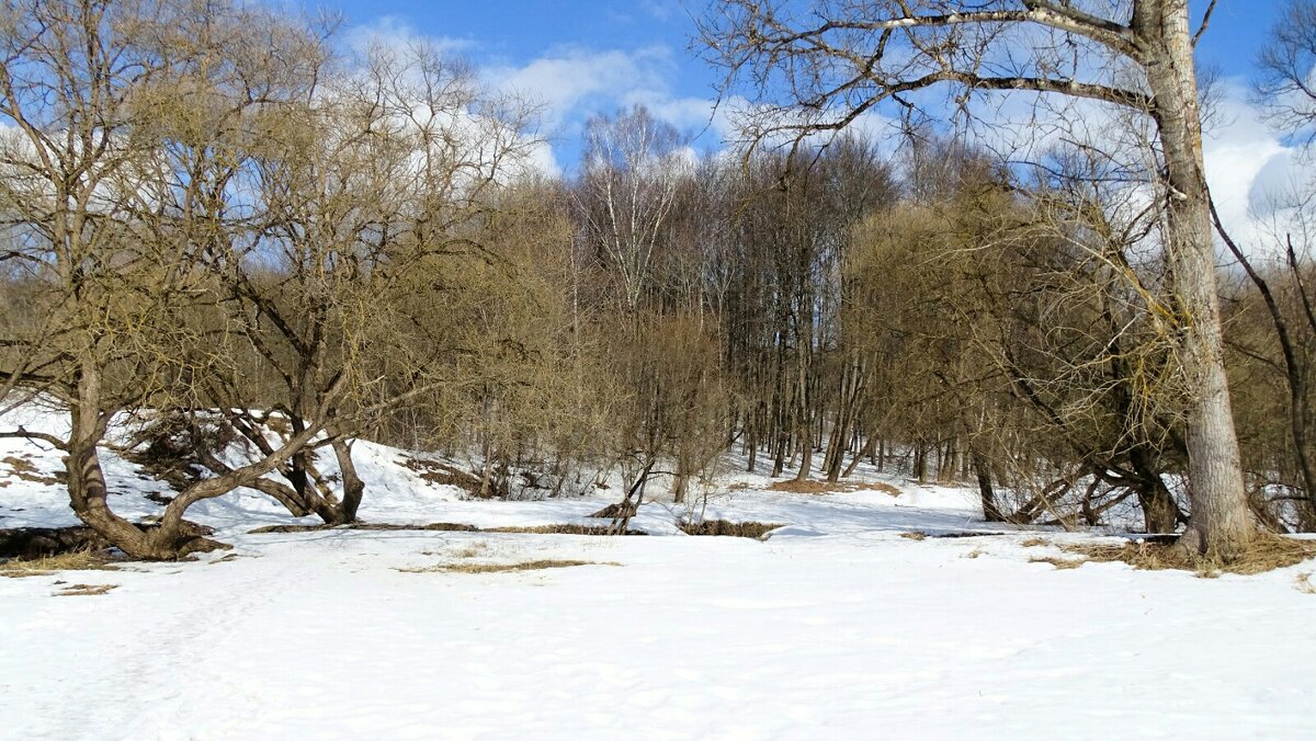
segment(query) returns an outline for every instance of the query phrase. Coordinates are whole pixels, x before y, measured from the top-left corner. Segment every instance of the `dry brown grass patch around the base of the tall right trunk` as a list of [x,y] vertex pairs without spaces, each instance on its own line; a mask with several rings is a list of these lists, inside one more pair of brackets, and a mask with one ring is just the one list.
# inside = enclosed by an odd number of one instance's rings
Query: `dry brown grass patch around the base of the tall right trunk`
[[1062,545],[1062,550],[1083,555],[1090,561],[1120,561],[1134,569],[1175,569],[1192,571],[1198,576],[1215,578],[1220,574],[1250,576],[1283,569],[1316,557],[1316,541],[1300,541],[1282,536],[1259,534],[1248,553],[1230,562],[1211,555],[1186,553],[1165,542],[1129,542],[1124,545]]

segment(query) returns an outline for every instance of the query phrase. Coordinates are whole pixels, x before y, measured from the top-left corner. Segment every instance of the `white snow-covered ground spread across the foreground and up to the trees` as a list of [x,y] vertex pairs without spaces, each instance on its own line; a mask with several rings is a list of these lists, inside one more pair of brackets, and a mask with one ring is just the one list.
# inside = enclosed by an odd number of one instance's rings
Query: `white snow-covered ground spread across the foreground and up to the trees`
[[[587,523],[616,491],[463,501],[405,484],[396,454],[366,455],[367,520]],[[57,462],[0,441],[0,528],[72,521],[59,487],[32,480]],[[107,469],[117,508],[157,507],[139,492],[159,484]],[[249,534],[292,520],[251,495],[205,503],[190,517],[233,551],[0,579],[0,737],[1316,737],[1316,595],[1298,588],[1316,563],[1057,570],[1029,561],[1054,546],[980,523],[963,490],[740,480],[708,516],[784,529],[691,537],[672,526],[683,508],[651,504],[649,537]],[[553,559],[590,563],[436,570]],[[116,588],[53,596],[72,583]]]

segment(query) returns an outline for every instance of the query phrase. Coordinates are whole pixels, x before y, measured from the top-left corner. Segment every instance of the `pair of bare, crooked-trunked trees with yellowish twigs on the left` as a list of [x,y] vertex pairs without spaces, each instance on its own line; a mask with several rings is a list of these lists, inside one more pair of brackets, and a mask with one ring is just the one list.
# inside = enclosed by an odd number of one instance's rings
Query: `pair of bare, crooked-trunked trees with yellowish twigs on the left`
[[[525,228],[500,199],[534,145],[528,109],[425,45],[342,51],[332,30],[237,3],[0,12],[5,407],[71,417],[5,434],[62,450],[74,511],[132,555],[208,548],[183,513],[240,486],[353,519],[351,438],[495,375],[483,361],[507,353],[482,345],[524,330],[472,291]],[[111,509],[100,467],[125,413],[211,470],[149,528]],[[204,444],[229,433],[251,462]]]

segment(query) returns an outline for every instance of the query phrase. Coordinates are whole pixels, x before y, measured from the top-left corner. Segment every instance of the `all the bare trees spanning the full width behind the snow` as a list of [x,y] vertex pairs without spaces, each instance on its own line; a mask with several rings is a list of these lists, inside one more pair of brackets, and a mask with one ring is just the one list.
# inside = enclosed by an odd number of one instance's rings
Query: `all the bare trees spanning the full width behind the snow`
[[[990,519],[1136,508],[1223,558],[1309,529],[1316,278],[1302,236],[1216,270],[1186,0],[961,5],[716,3],[745,141],[699,155],[636,107],[553,180],[533,111],[421,43],[7,0],[0,395],[71,426],[0,434],[62,450],[78,516],[147,558],[213,546],[183,515],[238,487],[354,520],[359,437],[466,457],[482,496],[620,470],[632,507],[680,501],[738,450],[970,479]],[[1302,129],[1313,49],[1284,43],[1258,96]],[[1136,143],[1007,163],[926,116],[942,84],[969,118],[986,91],[1096,100]],[[849,132],[888,103],[901,147]],[[125,417],[204,470],[150,525],[107,499]]]

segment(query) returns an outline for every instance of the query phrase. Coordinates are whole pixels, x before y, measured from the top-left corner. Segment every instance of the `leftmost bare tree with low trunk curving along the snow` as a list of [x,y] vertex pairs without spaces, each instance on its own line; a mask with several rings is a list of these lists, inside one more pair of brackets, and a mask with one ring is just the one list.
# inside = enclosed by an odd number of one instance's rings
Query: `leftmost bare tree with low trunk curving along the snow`
[[57,399],[72,422],[66,437],[5,434],[63,450],[74,512],[124,551],[213,548],[184,526],[187,507],[262,475],[313,432],[191,487],[155,526],[112,512],[97,447],[116,413],[188,405],[196,369],[225,362],[186,315],[204,296],[199,254],[234,137],[265,91],[224,61],[290,25],[182,0],[24,0],[5,3],[0,18],[0,115],[16,124],[0,191],[37,299],[33,324],[4,338],[3,370]]

